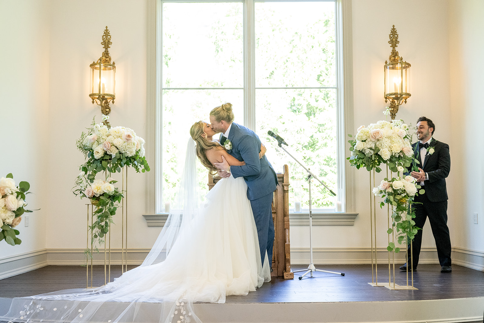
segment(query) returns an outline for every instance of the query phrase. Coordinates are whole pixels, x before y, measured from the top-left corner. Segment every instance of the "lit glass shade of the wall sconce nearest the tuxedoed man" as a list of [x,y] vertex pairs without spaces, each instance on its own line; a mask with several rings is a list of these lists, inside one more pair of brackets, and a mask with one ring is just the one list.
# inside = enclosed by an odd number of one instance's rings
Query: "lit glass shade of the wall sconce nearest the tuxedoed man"
[[385,64],[385,99],[400,104],[410,97],[410,66],[401,58],[396,63]]

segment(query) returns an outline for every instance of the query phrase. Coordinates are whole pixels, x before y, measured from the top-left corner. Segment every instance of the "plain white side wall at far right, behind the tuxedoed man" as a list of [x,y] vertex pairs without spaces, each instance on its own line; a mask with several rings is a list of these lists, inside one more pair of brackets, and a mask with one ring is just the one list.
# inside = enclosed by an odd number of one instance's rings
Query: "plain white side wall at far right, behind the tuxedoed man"
[[[484,2],[480,0],[450,1],[450,85],[452,118],[452,187],[454,246],[484,251]],[[473,223],[478,214],[478,224]]]

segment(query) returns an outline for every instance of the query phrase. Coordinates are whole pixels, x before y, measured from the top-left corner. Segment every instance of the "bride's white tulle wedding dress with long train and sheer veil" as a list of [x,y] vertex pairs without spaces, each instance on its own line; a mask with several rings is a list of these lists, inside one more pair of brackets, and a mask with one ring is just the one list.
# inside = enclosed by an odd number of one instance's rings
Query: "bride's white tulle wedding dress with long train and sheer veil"
[[225,303],[227,295],[246,295],[269,281],[243,178],[221,179],[199,203],[196,162],[190,139],[174,211],[142,265],[93,290],[15,298],[0,319],[200,322],[192,303]]

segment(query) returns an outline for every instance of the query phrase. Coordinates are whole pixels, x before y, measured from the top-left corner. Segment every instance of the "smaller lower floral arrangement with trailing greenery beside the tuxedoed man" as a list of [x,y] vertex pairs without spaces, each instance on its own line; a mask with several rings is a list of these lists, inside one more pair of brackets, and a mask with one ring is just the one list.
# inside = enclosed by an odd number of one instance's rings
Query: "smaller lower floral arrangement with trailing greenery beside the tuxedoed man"
[[[398,167],[398,175],[403,171],[403,167]],[[415,183],[415,178],[410,175],[401,177],[393,177],[391,180],[383,179],[378,187],[373,188],[373,193],[376,196],[385,198],[380,203],[380,207],[388,204],[392,208],[392,228],[389,228],[387,233],[392,234],[395,230],[396,238],[399,244],[403,242],[405,237],[413,240],[415,234],[420,228],[415,227],[415,213],[411,211],[410,204],[413,203],[415,196],[425,193],[421,186]],[[387,246],[388,251],[399,252],[400,248],[395,247],[393,242]]]

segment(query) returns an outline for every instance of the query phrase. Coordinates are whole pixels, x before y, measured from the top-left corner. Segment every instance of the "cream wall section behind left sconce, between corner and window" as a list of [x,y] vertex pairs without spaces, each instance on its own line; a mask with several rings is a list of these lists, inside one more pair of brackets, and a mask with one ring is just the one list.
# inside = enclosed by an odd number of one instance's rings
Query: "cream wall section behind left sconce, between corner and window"
[[[59,192],[49,197],[47,226],[62,230],[48,234],[47,248],[86,246],[87,200],[71,193],[83,155],[77,151],[76,138],[92,117],[101,121],[101,109],[89,98],[89,64],[97,61],[104,48],[100,44],[106,26],[111,33],[109,53],[116,63],[116,100],[111,104],[111,125],[132,128],[146,138],[146,33],[147,1],[132,0],[53,0],[50,25],[50,83],[48,121],[51,135],[61,133],[61,149],[53,149],[49,163],[50,186]],[[100,15],[93,8],[105,8]],[[58,93],[65,93],[59,97]],[[55,128],[55,130],[54,130]],[[152,144],[151,142],[147,145]],[[149,161],[152,165],[154,161]],[[115,176],[113,176],[115,177]],[[120,179],[121,177],[117,176]],[[116,177],[115,177],[116,178]],[[129,247],[150,247],[159,232],[147,228],[141,216],[146,213],[146,173],[128,173]],[[62,201],[63,203],[59,203]],[[112,228],[112,247],[121,247],[121,212]],[[118,234],[119,232],[119,234]]]

